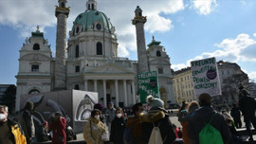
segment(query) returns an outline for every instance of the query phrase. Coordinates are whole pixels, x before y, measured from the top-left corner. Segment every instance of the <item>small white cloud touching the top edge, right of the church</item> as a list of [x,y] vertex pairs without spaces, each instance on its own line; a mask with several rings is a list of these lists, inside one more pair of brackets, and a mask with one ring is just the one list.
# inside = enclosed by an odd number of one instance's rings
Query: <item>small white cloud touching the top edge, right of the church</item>
[[210,14],[211,10],[217,6],[216,0],[193,0],[193,9],[196,9],[197,13],[202,15]]

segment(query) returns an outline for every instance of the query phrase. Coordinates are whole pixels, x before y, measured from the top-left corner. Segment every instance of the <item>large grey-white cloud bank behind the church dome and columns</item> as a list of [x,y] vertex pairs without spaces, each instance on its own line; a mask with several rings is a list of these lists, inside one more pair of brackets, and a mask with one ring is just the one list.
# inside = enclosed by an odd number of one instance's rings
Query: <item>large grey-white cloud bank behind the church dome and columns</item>
[[[136,29],[131,21],[134,18],[137,5],[143,10],[143,15],[147,16],[148,21],[145,24],[145,30],[150,32],[168,31],[174,27],[172,20],[163,17],[161,13],[171,14],[185,9],[183,0],[165,2],[147,0],[136,1],[136,3],[125,0],[97,0],[97,2],[98,10],[104,12],[110,18],[113,26],[116,27],[119,56],[127,57],[129,50],[135,51],[137,49]],[[67,31],[73,27],[76,17],[86,9],[85,4],[86,0],[67,1],[67,7],[70,7],[66,23]],[[20,36],[26,38],[30,36],[31,31],[34,31],[37,25],[41,27],[41,31],[44,31],[44,27],[56,26],[55,5],[58,5],[58,1],[0,1],[0,25],[14,27],[19,30]]]

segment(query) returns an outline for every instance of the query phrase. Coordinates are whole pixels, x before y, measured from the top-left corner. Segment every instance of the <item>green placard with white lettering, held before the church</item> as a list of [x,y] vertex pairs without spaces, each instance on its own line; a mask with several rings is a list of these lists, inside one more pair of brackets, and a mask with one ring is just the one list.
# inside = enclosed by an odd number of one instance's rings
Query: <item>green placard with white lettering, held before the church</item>
[[158,77],[156,71],[138,74],[137,86],[141,103],[146,103],[146,98],[149,95],[159,98]]

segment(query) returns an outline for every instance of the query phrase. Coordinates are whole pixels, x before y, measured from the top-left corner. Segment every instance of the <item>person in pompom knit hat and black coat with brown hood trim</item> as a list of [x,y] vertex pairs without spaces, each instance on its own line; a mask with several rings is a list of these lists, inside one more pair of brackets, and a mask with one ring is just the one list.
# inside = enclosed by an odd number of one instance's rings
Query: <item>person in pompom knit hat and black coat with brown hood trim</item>
[[173,143],[176,136],[169,115],[163,108],[163,100],[150,95],[147,97],[147,102],[151,106],[149,113],[139,114],[139,119],[142,121],[142,140],[146,144],[150,142],[150,136],[155,126],[160,131],[163,144]]

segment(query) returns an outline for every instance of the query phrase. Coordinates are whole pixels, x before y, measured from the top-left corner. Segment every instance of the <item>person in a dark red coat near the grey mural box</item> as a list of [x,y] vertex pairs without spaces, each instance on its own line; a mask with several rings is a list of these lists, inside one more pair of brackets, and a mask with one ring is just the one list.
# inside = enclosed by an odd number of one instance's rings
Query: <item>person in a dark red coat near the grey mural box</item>
[[65,134],[66,120],[62,113],[57,112],[52,119],[49,129],[52,130],[52,144],[65,144],[66,134]]

